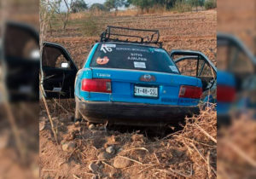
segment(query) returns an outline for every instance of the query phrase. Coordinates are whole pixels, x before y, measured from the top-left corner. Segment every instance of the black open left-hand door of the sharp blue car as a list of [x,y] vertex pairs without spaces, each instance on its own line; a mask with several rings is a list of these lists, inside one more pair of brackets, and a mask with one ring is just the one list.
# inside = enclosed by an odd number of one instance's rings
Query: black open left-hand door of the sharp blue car
[[61,45],[44,43],[41,60],[41,84],[46,98],[73,98],[78,68]]

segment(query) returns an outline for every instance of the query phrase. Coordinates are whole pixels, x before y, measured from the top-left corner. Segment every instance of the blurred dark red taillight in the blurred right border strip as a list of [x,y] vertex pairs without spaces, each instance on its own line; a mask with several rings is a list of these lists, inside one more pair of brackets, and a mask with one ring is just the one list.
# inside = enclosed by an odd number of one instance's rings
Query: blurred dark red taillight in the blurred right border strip
[[234,87],[218,85],[217,86],[217,101],[232,102],[235,100],[236,90]]

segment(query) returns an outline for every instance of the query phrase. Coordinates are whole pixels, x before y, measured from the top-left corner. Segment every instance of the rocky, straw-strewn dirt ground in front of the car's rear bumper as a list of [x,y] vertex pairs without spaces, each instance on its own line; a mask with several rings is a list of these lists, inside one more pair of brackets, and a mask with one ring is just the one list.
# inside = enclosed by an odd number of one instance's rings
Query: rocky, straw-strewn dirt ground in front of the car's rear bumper
[[212,108],[188,118],[183,130],[172,127],[160,136],[143,128],[73,123],[73,113],[56,104],[49,107],[57,116],[57,141],[41,111],[41,178],[216,178],[217,113]]

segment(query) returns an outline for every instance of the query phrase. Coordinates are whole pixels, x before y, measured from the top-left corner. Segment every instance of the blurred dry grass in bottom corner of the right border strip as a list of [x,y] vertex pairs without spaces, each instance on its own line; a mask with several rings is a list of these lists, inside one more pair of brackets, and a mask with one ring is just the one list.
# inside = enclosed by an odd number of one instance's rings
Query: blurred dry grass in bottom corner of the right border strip
[[218,177],[256,177],[256,122],[242,117],[218,130]]

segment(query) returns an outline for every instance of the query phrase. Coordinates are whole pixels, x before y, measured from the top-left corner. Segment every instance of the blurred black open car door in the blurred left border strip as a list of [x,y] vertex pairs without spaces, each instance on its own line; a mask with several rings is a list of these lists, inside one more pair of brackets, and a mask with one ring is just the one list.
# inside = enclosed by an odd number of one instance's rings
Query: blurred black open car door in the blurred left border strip
[[0,47],[0,72],[8,100],[38,101],[39,35],[32,26],[15,21],[4,23]]

